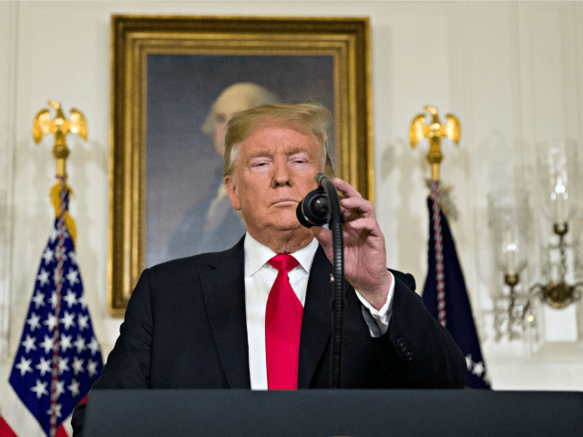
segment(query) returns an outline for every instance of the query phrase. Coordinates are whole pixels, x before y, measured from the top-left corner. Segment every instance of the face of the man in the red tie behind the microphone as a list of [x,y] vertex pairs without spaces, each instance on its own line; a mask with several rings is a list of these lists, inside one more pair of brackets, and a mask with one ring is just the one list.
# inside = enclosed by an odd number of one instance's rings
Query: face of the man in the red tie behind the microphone
[[253,238],[262,242],[279,231],[309,232],[295,210],[318,187],[318,151],[316,137],[300,127],[261,127],[240,144],[234,178],[225,177],[225,186]]

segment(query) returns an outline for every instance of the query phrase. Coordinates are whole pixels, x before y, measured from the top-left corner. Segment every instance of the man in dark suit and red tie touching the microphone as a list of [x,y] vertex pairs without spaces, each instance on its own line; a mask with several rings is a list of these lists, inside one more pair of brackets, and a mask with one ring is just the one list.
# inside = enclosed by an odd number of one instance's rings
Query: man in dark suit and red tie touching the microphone
[[[225,188],[247,233],[232,249],[146,269],[120,336],[92,390],[118,388],[327,388],[330,378],[332,236],[295,216],[325,168],[329,113],[313,105],[263,106],[230,120]],[[411,275],[386,269],[373,204],[335,178],[343,195],[346,308],[343,387],[463,388],[465,358],[425,310]],[[291,259],[285,274],[272,259]],[[281,276],[282,275],[282,276]],[[299,344],[284,352],[291,378],[275,382],[274,283],[300,310]],[[289,279],[289,281],[288,281]],[[287,299],[287,298],[286,298]],[[284,309],[285,310],[285,309]],[[287,317],[287,316],[286,316]],[[292,326],[293,325],[293,326]],[[89,396],[90,401],[90,396]],[[82,428],[84,406],[73,426]]]

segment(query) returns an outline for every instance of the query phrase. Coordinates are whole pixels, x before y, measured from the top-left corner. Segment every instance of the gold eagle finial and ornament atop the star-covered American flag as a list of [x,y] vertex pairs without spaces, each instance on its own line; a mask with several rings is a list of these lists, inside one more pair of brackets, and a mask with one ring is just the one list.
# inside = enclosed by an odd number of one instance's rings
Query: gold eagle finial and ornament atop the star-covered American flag
[[67,120],[60,103],[49,100],[48,105],[55,109],[55,118],[50,119],[48,109],[38,111],[33,122],[33,138],[38,144],[47,134],[55,136],[53,156],[56,159],[56,178],[59,180],[51,188],[51,201],[55,208],[56,217],[58,218],[61,214],[65,216],[69,234],[75,241],[77,234],[75,220],[71,218],[68,210],[63,210],[64,196],[68,197],[73,193],[73,190],[66,184],[66,158],[69,156],[69,149],[66,147],[66,134],[72,132],[87,141],[87,121],[83,113],[76,108],[71,109],[71,119]]

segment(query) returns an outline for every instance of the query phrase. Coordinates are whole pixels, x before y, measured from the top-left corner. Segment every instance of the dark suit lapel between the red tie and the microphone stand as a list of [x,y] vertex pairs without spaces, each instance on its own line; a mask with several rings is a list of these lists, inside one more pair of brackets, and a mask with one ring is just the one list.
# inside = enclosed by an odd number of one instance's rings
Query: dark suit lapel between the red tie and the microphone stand
[[331,273],[332,264],[326,258],[322,247],[319,247],[313,259],[303,308],[298,371],[300,389],[310,385],[313,373],[318,362],[322,360],[322,354],[332,334]]

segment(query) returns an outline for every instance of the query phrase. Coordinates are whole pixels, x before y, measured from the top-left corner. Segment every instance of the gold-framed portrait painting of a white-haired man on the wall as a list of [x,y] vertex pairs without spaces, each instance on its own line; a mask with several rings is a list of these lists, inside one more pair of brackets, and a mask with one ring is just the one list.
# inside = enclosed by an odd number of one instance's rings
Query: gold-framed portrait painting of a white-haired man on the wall
[[369,23],[359,17],[113,15],[108,302],[139,274],[244,234],[222,187],[241,109],[330,109],[336,175],[373,198]]

